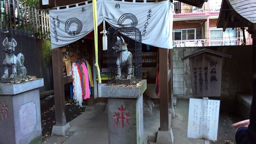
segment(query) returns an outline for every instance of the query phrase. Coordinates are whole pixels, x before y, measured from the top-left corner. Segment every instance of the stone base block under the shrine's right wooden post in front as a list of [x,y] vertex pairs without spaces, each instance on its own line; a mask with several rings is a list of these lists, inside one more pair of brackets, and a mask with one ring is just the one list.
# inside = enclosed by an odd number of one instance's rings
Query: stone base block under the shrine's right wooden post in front
[[173,144],[172,128],[169,131],[158,131],[156,143],[158,143],[158,144]]

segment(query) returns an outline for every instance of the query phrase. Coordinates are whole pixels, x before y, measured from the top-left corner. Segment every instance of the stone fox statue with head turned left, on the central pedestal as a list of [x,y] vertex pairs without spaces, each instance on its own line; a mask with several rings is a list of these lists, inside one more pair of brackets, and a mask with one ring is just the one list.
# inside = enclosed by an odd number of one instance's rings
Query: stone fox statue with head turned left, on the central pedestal
[[115,53],[117,53],[116,65],[117,73],[116,79],[122,79],[121,67],[127,67],[127,79],[132,77],[132,59],[133,55],[128,51],[127,45],[122,37],[117,37],[117,41],[112,47]]

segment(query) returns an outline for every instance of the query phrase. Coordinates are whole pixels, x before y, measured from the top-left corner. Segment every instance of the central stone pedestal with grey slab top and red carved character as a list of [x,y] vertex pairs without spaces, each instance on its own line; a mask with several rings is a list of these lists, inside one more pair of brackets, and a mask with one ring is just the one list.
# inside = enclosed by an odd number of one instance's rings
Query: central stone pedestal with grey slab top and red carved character
[[102,97],[108,98],[109,144],[143,143],[142,94],[146,88],[146,80],[137,87],[102,87]]

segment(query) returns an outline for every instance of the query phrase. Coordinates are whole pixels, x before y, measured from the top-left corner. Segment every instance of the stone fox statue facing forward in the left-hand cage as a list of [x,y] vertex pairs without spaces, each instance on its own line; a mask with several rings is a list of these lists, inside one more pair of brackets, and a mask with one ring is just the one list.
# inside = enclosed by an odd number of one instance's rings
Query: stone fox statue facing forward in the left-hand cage
[[24,55],[22,53],[19,53],[17,56],[14,54],[15,47],[17,46],[16,40],[12,38],[12,41],[8,42],[8,38],[5,38],[3,45],[5,46],[6,54],[2,63],[4,66],[2,79],[7,79],[9,77],[8,67],[12,67],[12,74],[9,78],[17,77],[17,72],[19,77],[26,76],[27,69],[24,66]]

